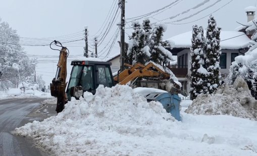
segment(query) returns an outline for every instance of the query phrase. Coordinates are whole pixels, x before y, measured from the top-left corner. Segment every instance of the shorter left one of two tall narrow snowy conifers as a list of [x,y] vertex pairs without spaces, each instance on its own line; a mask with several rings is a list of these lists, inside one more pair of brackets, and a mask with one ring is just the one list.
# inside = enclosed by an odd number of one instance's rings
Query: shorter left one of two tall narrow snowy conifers
[[208,72],[204,68],[205,55],[203,52],[205,38],[203,28],[197,25],[192,27],[191,68],[190,68],[190,99],[195,99],[201,93],[207,93]]

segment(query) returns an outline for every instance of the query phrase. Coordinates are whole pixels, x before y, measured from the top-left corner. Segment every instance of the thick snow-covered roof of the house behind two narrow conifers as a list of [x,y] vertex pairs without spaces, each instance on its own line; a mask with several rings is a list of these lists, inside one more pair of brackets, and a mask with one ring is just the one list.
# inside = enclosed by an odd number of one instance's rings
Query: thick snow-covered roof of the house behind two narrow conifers
[[[204,33],[205,35],[205,33]],[[174,41],[175,48],[189,48],[191,43],[192,31],[188,31],[167,40]],[[250,39],[243,33],[238,31],[221,31],[221,48],[222,49],[241,49],[249,45]]]

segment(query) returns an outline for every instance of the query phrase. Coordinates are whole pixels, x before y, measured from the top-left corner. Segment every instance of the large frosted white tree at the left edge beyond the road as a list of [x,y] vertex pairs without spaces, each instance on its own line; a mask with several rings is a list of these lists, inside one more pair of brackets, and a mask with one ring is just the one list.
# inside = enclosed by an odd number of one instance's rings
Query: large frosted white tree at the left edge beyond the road
[[35,66],[35,60],[30,60],[20,46],[16,30],[0,21],[0,89],[18,87],[33,74]]

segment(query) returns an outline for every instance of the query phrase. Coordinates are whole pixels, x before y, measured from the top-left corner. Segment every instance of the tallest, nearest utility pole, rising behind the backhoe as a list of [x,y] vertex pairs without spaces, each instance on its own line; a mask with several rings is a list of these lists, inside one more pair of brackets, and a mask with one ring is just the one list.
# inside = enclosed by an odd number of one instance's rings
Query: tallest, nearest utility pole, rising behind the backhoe
[[121,56],[120,56],[120,71],[124,71],[125,63],[125,0],[121,0],[119,3],[121,8]]

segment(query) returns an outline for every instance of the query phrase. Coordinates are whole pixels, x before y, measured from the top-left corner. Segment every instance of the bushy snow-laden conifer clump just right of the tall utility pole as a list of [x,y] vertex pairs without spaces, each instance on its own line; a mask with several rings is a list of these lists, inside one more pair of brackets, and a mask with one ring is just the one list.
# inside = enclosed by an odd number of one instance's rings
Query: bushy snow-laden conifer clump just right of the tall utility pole
[[163,41],[163,33],[167,27],[162,24],[151,26],[145,19],[142,25],[133,22],[133,32],[129,37],[127,57],[132,58],[132,64],[139,62],[145,64],[150,60],[157,64],[167,64],[172,60],[172,54],[166,48],[171,47],[169,41]]

